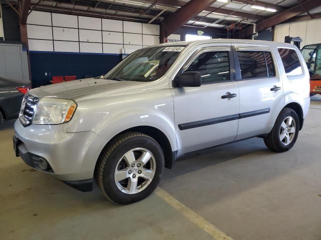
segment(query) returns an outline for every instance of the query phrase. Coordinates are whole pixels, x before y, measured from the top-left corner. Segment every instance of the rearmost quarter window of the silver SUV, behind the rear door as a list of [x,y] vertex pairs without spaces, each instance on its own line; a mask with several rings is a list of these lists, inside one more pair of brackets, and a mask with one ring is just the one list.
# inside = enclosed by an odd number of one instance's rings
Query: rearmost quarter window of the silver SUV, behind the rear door
[[302,67],[296,51],[289,48],[278,48],[277,50],[280,53],[286,75],[301,75]]

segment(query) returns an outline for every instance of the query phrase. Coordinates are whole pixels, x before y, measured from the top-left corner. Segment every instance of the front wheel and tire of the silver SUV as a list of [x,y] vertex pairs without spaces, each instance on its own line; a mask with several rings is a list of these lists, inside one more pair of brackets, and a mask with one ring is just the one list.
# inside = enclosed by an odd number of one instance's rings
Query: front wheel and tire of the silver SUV
[[126,132],[105,149],[96,164],[95,179],[108,199],[128,204],[155,190],[165,167],[164,153],[157,141],[141,132]]

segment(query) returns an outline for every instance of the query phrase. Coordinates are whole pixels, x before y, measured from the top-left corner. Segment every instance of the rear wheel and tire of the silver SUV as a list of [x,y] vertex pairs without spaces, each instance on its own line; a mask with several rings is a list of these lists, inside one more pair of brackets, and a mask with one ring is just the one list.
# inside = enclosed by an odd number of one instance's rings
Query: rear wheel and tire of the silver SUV
[[296,142],[298,133],[299,117],[293,109],[285,107],[277,116],[271,132],[264,137],[264,143],[272,151],[288,151]]

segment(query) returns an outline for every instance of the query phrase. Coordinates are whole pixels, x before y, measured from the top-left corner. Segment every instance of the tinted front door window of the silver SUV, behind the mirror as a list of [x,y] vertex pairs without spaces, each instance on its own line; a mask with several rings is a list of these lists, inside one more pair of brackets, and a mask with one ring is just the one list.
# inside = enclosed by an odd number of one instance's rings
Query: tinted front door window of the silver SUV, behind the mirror
[[186,71],[199,71],[202,83],[230,80],[230,64],[227,51],[204,52],[194,59]]

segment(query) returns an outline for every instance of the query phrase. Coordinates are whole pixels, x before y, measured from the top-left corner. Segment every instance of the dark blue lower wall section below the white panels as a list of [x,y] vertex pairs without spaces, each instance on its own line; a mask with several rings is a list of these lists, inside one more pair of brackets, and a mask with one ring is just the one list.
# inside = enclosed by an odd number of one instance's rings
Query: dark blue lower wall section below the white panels
[[51,84],[52,76],[100,76],[120,60],[121,54],[30,51],[32,85]]

